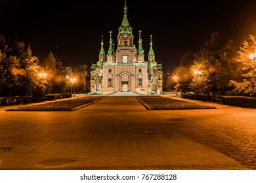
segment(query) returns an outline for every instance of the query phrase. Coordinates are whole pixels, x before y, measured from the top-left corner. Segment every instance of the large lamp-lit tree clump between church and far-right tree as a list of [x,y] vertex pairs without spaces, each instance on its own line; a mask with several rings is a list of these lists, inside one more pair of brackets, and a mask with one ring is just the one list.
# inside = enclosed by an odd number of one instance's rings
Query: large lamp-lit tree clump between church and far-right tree
[[178,69],[182,92],[215,95],[231,91],[234,86],[228,85],[229,81],[239,80],[242,74],[237,61],[239,46],[234,39],[224,43],[215,32],[198,53],[184,55]]

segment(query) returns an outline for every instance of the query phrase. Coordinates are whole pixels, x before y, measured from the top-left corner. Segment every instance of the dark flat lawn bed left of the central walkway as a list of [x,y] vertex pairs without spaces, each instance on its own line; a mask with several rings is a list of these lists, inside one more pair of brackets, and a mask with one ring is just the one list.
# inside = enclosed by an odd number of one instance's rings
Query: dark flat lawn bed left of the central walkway
[[68,99],[63,101],[54,101],[45,104],[31,105],[26,107],[17,107],[7,109],[6,111],[63,111],[63,110],[76,110],[77,108],[85,107],[98,100],[104,99],[106,97],[79,97],[75,99]]

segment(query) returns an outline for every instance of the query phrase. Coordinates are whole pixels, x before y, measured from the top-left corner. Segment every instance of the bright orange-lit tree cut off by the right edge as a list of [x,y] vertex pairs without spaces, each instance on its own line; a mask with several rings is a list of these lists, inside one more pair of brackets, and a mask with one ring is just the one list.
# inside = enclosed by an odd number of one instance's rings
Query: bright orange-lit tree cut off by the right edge
[[230,85],[234,86],[234,95],[256,96],[256,67],[255,58],[250,59],[249,55],[255,53],[256,36],[249,35],[240,47],[238,62],[242,63],[242,78],[240,80],[230,80]]

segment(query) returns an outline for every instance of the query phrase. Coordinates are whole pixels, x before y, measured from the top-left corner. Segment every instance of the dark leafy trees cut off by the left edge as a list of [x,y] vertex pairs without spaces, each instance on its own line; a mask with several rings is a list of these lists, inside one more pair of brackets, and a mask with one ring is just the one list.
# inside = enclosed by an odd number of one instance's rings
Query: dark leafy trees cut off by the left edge
[[30,46],[17,37],[9,43],[0,36],[1,96],[33,95],[39,85],[38,58],[32,55]]

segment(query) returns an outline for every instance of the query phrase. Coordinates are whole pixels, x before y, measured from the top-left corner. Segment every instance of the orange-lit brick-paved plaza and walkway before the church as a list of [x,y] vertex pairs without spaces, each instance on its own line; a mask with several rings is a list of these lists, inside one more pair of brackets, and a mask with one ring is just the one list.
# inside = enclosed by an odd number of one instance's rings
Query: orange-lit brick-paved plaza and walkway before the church
[[256,109],[190,102],[216,109],[147,110],[135,95],[66,112],[0,107],[0,169],[256,169]]

